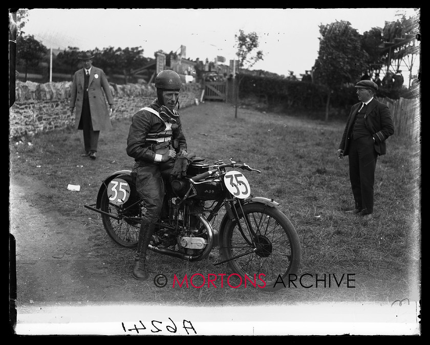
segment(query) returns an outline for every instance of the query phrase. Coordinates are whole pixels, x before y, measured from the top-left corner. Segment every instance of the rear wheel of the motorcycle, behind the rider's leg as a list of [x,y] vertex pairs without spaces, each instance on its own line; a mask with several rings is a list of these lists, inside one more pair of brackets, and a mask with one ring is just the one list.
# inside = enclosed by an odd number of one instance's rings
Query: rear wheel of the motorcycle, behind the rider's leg
[[[121,178],[131,184],[130,176],[121,176]],[[121,206],[114,205],[109,202],[107,190],[103,192],[100,201],[100,210],[119,218],[117,220],[109,215],[101,214],[104,229],[115,243],[125,248],[134,248],[139,242],[141,224],[139,216],[142,205],[141,203],[136,203],[136,201],[135,198],[132,198]],[[124,211],[124,209],[131,205],[134,206]]]

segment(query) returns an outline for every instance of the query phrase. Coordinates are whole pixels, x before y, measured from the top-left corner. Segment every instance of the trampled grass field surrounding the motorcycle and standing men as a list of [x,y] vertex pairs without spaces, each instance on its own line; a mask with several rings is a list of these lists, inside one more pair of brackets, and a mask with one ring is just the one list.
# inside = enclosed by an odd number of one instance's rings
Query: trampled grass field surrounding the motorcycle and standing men
[[[252,194],[280,203],[279,208],[295,226],[302,245],[300,274],[309,274],[303,286],[263,293],[249,287],[159,289],[152,279],[135,281],[131,276],[134,251],[114,244],[99,214],[83,207],[95,203],[105,177],[132,168],[134,162],[125,153],[130,119],[116,121],[114,131],[101,133],[96,161],[80,157],[81,132],[66,130],[39,135],[30,143],[11,142],[11,173],[31,176],[52,188],[50,196],[39,195],[34,203],[50,205],[80,220],[88,229],[88,241],[118,284],[125,290],[142,291],[141,301],[230,306],[419,299],[420,157],[410,140],[390,138],[388,154],[378,158],[375,213],[372,220],[364,222],[344,212],[353,207],[348,160],[336,156],[345,122],[325,123],[244,108],[234,118],[234,107],[218,102],[181,109],[180,113],[189,152],[210,164],[231,158],[262,171],[245,175]],[[68,184],[81,189],[68,191]],[[151,252],[149,275],[232,273],[227,266],[213,266],[217,258],[218,254],[189,263]],[[326,287],[324,282],[316,282],[316,274],[318,279],[326,276]],[[335,285],[333,277],[339,282],[343,274],[340,286]],[[348,274],[354,279],[350,287],[344,284]]]

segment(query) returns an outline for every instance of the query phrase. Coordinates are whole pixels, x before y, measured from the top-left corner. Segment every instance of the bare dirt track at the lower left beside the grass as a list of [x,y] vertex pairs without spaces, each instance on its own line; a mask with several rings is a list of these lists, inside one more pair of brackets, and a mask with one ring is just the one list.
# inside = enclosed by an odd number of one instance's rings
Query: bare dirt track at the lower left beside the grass
[[[133,300],[93,255],[85,224],[71,222],[37,195],[50,189],[28,177],[11,176],[10,233],[16,242],[16,292],[20,315],[44,306]],[[128,294],[128,295],[127,295]]]

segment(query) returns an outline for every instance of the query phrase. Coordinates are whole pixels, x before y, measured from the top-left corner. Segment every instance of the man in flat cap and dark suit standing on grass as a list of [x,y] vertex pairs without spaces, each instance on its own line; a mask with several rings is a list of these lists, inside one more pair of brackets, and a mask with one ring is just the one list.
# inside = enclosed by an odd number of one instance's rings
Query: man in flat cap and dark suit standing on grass
[[355,209],[365,220],[372,218],[373,185],[376,160],[385,155],[385,140],[394,134],[390,109],[374,98],[378,85],[371,80],[359,81],[359,103],[351,108],[339,149],[338,158],[349,156],[349,174]]

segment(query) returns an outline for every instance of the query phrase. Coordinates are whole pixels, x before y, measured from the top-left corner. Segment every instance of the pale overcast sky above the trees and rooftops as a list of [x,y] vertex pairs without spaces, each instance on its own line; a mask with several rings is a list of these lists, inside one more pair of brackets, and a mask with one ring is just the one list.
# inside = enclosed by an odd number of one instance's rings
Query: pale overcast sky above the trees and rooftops
[[[259,36],[262,61],[252,69],[279,75],[304,74],[318,57],[319,25],[348,20],[360,34],[396,13],[415,15],[412,8],[336,9],[30,9],[24,27],[47,48],[80,50],[141,47],[145,57],[186,47],[186,58],[213,60],[220,55],[226,63],[234,59],[234,35],[239,30]],[[17,18],[19,20],[19,18]],[[96,61],[94,61],[97,66]]]

